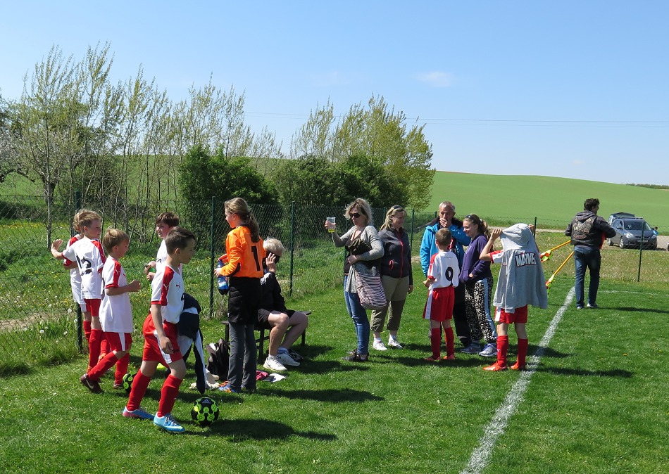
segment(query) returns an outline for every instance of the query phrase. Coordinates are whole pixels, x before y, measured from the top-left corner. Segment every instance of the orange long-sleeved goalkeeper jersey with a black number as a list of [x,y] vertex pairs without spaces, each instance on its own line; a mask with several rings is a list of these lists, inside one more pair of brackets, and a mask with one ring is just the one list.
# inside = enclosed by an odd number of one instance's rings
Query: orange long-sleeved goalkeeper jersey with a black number
[[251,241],[251,230],[248,226],[235,227],[227,234],[225,250],[227,264],[221,268],[223,275],[247,278],[263,276],[263,239],[258,239],[258,242]]

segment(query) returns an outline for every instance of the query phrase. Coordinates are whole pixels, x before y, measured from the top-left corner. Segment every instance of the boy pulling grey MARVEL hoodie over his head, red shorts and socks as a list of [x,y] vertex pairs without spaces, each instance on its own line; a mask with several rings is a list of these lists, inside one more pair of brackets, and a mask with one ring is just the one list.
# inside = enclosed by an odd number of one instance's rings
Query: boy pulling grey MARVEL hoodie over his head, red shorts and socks
[[[484,366],[484,371],[505,371],[508,351],[508,325],[514,324],[518,335],[518,360],[512,370],[525,370],[527,357],[527,305],[546,309],[548,294],[544,282],[542,259],[532,235],[533,226],[515,224],[507,229],[493,229],[481,250],[480,260],[499,263],[502,268],[492,304],[497,323],[497,361]],[[492,251],[494,241],[501,236],[502,250]]]

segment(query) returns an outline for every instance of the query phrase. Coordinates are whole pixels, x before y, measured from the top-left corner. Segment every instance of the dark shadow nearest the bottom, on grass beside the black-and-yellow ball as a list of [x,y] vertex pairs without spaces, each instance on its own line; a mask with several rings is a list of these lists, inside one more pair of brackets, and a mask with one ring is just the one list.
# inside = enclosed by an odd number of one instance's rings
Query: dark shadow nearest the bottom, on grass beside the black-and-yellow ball
[[[187,432],[189,434],[199,434]],[[330,433],[317,433],[315,431],[296,431],[289,425],[269,420],[221,420],[213,423],[208,429],[209,435],[220,435],[226,437],[230,442],[245,442],[249,440],[286,440],[291,436],[299,436],[310,440],[335,441],[337,437]]]

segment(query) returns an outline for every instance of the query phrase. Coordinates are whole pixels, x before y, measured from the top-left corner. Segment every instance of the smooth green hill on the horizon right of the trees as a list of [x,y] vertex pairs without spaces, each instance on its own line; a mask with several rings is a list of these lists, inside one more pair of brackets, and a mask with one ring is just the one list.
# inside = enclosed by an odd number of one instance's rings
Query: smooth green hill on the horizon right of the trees
[[459,217],[478,214],[493,222],[529,222],[537,217],[539,226],[560,229],[583,209],[587,198],[601,201],[599,215],[605,219],[611,212],[632,212],[661,232],[669,230],[668,190],[582,179],[439,171],[434,175],[430,209],[450,200]]

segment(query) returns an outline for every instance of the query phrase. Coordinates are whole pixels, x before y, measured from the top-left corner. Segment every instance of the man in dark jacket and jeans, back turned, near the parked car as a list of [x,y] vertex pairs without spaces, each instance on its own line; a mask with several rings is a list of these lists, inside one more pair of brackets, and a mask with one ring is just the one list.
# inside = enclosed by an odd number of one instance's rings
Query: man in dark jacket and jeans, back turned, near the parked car
[[613,227],[597,215],[599,199],[586,199],[583,210],[578,212],[565,230],[565,236],[571,237],[574,245],[574,264],[576,267],[576,309],[584,307],[585,269],[590,271],[587,307],[597,307],[597,290],[599,289],[599,269],[601,254],[599,249],[604,239],[615,236]]

